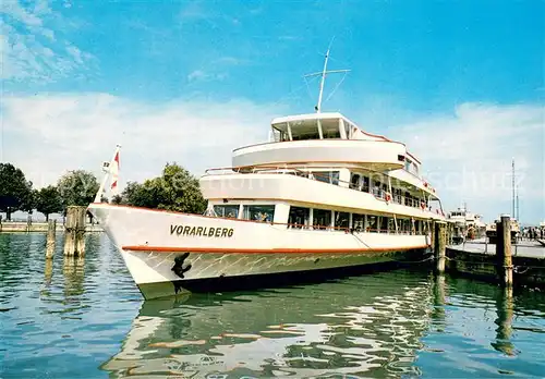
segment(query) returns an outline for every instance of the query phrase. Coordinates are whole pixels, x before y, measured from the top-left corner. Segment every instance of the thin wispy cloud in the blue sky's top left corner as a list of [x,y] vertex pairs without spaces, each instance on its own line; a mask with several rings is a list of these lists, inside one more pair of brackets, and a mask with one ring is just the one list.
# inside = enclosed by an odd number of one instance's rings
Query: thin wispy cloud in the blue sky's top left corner
[[51,82],[93,64],[95,58],[81,51],[53,29],[62,27],[60,14],[47,0],[25,8],[16,0],[2,2],[1,77],[3,80]]

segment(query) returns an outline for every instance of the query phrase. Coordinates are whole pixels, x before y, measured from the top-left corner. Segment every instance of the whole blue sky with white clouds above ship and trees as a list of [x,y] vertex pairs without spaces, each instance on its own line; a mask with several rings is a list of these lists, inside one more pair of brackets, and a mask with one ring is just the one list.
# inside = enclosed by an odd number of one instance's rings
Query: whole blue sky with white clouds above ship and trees
[[446,210],[545,220],[545,2],[3,0],[0,160],[35,187],[120,182],[178,162],[201,176],[265,142],[275,117],[323,111],[407,144]]

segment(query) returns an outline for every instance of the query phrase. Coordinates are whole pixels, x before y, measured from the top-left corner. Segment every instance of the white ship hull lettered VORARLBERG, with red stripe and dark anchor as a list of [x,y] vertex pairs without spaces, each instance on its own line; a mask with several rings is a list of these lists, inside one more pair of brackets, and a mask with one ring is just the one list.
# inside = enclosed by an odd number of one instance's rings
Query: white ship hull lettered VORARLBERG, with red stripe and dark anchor
[[[145,298],[231,279],[349,268],[424,249],[428,236],[288,229],[245,220],[92,204]],[[318,271],[319,272],[319,271]]]

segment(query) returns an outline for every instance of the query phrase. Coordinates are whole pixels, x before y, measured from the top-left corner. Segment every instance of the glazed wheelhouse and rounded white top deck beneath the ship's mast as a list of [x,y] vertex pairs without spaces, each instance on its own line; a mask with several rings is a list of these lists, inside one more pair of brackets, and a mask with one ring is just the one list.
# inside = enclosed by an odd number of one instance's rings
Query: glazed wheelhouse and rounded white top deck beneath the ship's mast
[[341,113],[312,113],[271,121],[268,143],[233,150],[232,166],[342,166],[390,171],[405,166],[404,144],[365,133]]

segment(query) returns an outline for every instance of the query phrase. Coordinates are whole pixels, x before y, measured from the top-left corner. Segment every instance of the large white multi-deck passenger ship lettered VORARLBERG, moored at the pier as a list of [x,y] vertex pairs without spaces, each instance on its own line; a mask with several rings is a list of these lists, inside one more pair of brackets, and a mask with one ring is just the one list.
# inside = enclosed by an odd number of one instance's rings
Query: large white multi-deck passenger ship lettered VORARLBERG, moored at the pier
[[[327,56],[319,99],[326,66]],[[99,203],[101,186],[89,211],[145,298],[385,262],[429,246],[429,222],[445,216],[421,161],[320,102],[315,113],[272,120],[269,140],[237,148],[231,168],[206,171],[205,215]]]

